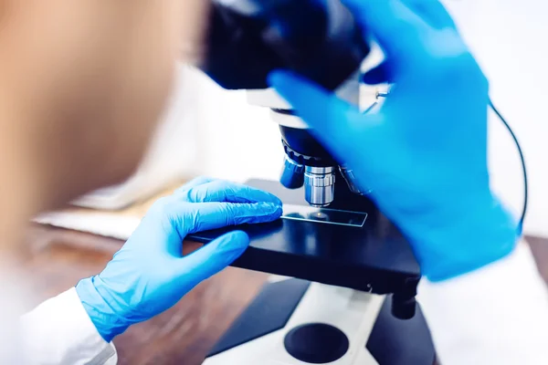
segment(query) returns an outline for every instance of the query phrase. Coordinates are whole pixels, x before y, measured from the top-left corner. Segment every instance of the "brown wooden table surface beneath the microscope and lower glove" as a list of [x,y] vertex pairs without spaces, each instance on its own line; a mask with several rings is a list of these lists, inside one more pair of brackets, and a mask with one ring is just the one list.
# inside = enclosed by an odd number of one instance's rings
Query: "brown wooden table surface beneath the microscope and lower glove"
[[[548,243],[529,238],[540,271],[548,283]],[[33,225],[27,268],[37,303],[73,287],[100,270],[121,242],[63,229]],[[197,248],[184,244],[184,252]],[[209,349],[265,282],[266,274],[228,267],[187,294],[174,308],[135,325],[114,339],[119,363],[201,364]]]

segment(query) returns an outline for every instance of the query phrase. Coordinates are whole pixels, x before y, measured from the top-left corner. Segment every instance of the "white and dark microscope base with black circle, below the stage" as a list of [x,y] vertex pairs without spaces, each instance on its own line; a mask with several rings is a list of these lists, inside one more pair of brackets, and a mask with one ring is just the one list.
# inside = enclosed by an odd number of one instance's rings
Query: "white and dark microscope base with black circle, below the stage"
[[394,318],[390,297],[283,279],[265,285],[204,365],[432,365],[426,321]]

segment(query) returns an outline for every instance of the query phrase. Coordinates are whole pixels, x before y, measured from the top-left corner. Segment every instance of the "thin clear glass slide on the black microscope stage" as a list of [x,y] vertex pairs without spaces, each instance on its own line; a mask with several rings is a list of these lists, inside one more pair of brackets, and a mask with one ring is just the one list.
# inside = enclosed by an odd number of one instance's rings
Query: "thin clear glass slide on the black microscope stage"
[[367,219],[367,214],[328,208],[316,208],[308,205],[284,204],[281,218],[295,221],[362,227],[364,226],[365,219]]

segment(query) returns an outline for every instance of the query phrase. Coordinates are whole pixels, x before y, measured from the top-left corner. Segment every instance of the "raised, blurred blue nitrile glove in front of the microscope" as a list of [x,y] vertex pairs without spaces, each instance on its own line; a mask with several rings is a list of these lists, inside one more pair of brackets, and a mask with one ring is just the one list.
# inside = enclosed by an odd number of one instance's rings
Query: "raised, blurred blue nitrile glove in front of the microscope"
[[516,223],[490,192],[488,81],[437,0],[346,0],[384,49],[365,75],[395,86],[364,115],[277,71],[270,83],[410,240],[424,276],[458,276],[509,254]]

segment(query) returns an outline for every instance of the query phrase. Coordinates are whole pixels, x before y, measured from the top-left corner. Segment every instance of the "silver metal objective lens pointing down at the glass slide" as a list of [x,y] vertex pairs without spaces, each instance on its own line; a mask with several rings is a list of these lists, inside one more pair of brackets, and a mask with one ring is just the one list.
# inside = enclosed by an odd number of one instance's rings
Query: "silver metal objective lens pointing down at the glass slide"
[[335,193],[335,169],[306,166],[304,171],[304,198],[311,206],[327,206]]

